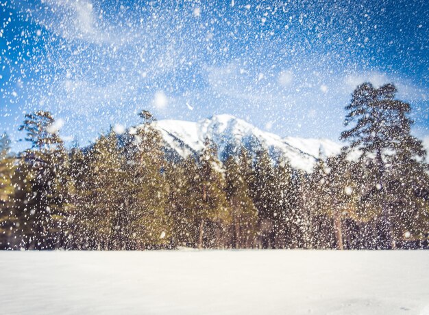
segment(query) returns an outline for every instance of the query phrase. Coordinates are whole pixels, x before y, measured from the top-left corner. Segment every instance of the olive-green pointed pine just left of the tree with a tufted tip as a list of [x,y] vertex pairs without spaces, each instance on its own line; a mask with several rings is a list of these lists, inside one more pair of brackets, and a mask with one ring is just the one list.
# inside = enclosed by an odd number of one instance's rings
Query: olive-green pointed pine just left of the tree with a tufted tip
[[[119,249],[121,225],[115,219],[122,203],[123,156],[117,135],[101,135],[84,156],[86,172],[76,185],[76,233],[86,249]],[[119,230],[119,231],[118,231]]]

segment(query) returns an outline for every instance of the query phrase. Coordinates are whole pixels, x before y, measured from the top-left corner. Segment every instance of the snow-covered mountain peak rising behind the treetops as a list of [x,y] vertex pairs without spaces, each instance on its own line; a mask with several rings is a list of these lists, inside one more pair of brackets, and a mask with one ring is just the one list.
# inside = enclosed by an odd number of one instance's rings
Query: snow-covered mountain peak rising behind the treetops
[[295,169],[311,172],[320,155],[332,156],[341,150],[340,143],[328,139],[281,138],[232,115],[214,115],[199,122],[159,120],[154,122],[154,127],[167,143],[167,152],[180,157],[196,154],[208,138],[218,146],[221,159],[240,145],[251,152],[262,146],[273,159],[285,158]]

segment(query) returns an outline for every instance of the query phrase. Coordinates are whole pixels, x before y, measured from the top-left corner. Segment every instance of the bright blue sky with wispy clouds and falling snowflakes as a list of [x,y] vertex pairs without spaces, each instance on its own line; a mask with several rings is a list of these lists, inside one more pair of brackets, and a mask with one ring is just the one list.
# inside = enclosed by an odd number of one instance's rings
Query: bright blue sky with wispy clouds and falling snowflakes
[[[429,135],[425,1],[0,0],[0,132],[23,113],[69,143],[141,109],[230,113],[281,136],[337,139],[356,85],[393,82]],[[17,146],[17,145],[16,145]]]

